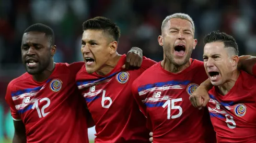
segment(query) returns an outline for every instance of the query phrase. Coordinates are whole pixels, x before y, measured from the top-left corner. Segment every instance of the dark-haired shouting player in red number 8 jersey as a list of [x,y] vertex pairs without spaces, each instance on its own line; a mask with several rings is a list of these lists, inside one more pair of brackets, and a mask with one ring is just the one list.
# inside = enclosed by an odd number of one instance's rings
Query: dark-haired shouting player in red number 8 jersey
[[[217,142],[256,142],[256,77],[238,70],[238,46],[231,35],[212,32],[204,43],[204,68],[214,85],[207,107]],[[255,59],[250,61],[249,71],[256,73]]]

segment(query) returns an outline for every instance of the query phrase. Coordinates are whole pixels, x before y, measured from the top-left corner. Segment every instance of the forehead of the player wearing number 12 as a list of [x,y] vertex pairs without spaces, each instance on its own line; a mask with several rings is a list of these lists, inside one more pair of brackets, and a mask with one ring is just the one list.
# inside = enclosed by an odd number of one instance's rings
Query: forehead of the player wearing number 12
[[22,44],[37,43],[48,44],[49,40],[43,32],[27,32],[22,36]]

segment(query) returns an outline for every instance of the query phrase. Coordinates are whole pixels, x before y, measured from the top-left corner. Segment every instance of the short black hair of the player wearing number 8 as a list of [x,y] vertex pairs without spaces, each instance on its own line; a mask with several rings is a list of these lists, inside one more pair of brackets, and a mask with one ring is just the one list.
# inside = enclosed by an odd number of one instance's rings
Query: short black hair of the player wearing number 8
[[238,45],[233,36],[224,32],[213,31],[204,37],[204,44],[211,42],[223,42],[225,47],[230,47],[238,55]]

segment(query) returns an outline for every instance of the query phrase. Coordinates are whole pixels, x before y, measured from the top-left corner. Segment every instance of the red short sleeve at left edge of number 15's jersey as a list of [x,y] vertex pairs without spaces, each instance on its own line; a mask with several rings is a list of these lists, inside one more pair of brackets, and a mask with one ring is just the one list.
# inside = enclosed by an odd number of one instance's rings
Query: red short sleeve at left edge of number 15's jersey
[[146,106],[144,105],[144,103],[142,102],[142,100],[145,100],[145,99],[142,99],[142,97],[139,96],[139,93],[138,93],[138,85],[136,84],[136,80],[133,82],[132,84],[132,93],[133,93],[133,97],[135,99],[135,101],[137,102],[137,105],[139,107],[139,110],[141,110],[141,112],[147,116],[147,110],[146,110]]

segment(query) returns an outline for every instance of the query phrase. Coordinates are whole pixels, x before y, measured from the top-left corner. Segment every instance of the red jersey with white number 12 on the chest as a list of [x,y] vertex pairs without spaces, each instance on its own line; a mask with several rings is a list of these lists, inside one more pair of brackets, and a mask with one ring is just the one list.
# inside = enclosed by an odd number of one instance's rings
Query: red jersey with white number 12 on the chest
[[89,142],[86,110],[75,83],[84,62],[56,63],[49,79],[36,82],[25,73],[11,81],[5,99],[27,142]]

